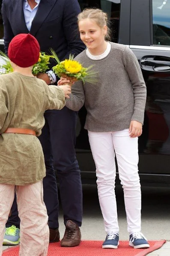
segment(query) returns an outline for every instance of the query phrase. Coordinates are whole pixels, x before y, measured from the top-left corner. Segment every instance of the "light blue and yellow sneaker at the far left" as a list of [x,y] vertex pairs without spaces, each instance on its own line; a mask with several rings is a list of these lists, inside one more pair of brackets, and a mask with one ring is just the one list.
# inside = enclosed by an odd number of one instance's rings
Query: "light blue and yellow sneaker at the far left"
[[5,235],[3,237],[3,245],[17,245],[20,242],[20,230],[12,225],[6,228]]

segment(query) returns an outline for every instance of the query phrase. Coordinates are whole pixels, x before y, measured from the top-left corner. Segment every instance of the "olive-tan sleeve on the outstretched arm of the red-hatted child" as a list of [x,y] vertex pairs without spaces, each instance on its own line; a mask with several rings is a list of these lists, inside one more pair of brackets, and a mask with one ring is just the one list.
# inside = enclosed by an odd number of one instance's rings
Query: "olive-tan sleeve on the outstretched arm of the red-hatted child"
[[49,85],[46,86],[47,90],[47,105],[45,110],[47,109],[62,109],[66,104],[65,95],[62,89],[59,86]]

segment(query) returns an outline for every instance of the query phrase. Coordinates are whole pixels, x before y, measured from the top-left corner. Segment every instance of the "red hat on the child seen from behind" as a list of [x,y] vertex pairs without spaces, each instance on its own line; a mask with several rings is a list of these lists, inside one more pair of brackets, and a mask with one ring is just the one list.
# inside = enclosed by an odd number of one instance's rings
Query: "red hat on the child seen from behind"
[[31,34],[18,34],[9,43],[9,59],[21,68],[36,64],[39,52],[39,42]]

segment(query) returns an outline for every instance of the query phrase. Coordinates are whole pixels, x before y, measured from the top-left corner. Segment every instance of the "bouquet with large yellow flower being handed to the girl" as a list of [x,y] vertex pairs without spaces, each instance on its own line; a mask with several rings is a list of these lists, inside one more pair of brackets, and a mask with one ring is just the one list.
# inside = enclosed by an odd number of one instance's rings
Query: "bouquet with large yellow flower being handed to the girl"
[[73,82],[81,80],[83,83],[96,83],[96,72],[92,71],[93,66],[84,68],[79,62],[74,60],[74,55],[70,54],[69,59],[65,59],[60,62],[56,52],[51,49],[51,54],[54,57],[57,65],[52,69],[57,76],[66,77],[67,80],[70,80],[69,85],[72,85]]

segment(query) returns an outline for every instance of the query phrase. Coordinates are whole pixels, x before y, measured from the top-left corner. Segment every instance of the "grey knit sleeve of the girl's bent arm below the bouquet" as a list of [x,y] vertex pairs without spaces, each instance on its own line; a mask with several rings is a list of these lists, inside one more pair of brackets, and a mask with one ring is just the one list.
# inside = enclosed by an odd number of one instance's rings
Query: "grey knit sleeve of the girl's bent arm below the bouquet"
[[70,94],[69,99],[66,99],[66,107],[74,111],[79,111],[83,107],[84,101],[84,86],[81,81],[78,81],[72,85],[72,94]]

